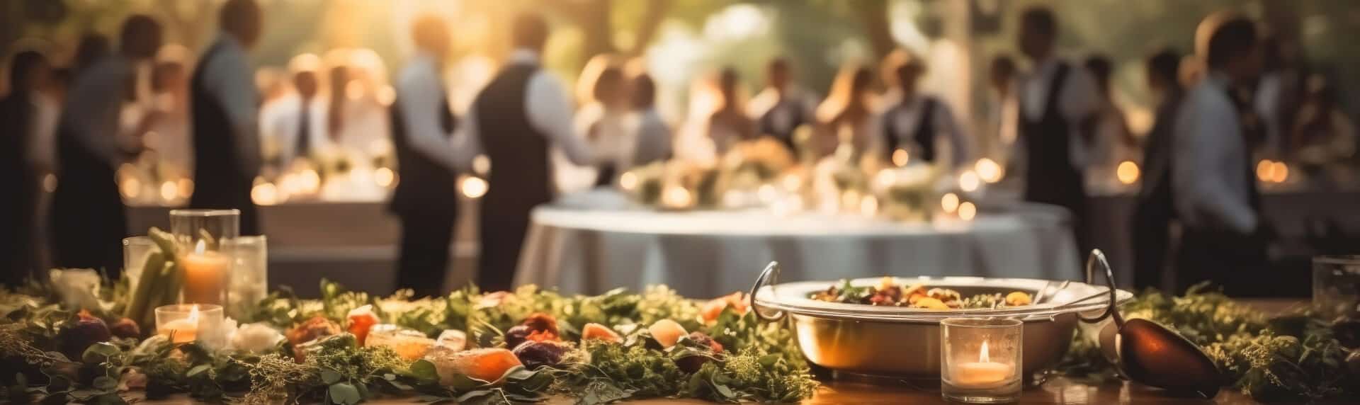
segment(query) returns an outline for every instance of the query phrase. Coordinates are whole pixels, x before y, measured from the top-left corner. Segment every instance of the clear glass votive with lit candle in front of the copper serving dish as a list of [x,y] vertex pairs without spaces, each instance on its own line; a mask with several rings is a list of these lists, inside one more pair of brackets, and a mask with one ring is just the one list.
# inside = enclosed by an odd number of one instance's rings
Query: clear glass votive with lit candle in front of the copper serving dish
[[940,321],[940,393],[948,401],[1020,400],[1024,322],[1013,318]]

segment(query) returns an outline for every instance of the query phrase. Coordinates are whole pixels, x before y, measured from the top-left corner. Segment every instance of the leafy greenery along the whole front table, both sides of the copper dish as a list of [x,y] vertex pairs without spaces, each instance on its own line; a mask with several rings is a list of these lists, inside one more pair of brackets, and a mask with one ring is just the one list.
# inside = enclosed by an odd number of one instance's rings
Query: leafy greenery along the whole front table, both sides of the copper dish
[[[121,287],[101,299],[118,313]],[[558,319],[564,353],[549,367],[514,367],[496,381],[458,376],[441,382],[435,364],[409,362],[386,347],[360,347],[347,333],[318,340],[299,360],[287,341],[260,352],[208,351],[196,342],[82,336],[82,328],[114,323],[76,314],[41,287],[0,292],[0,402],[126,404],[129,390],[147,398],[188,394],[199,401],[277,404],[358,404],[381,395],[426,402],[518,404],[549,395],[577,404],[636,398],[699,398],[718,402],[789,402],[809,398],[817,382],[787,325],[759,322],[733,304],[704,322],[706,307],[666,287],[632,294],[567,296],[524,287],[481,294],[475,288],[442,298],[409,294],[378,298],[322,280],[322,298],[299,299],[288,289],[271,294],[243,319],[290,329],[313,317],[344,322],[351,310],[371,304],[389,323],[437,337],[465,330],[471,347],[503,345],[507,330],[534,314]],[[1171,325],[1201,345],[1232,386],[1261,401],[1360,398],[1360,323],[1323,322],[1300,313],[1268,318],[1219,292],[1193,288],[1185,296],[1156,291],[1123,307],[1130,318]],[[725,351],[681,337],[661,349],[646,325],[661,319],[702,332]],[[613,325],[619,342],[582,340],[586,323]],[[125,326],[125,325],[124,325]],[[91,328],[91,330],[95,328]],[[79,342],[80,340],[84,342]],[[69,352],[71,348],[83,348]],[[1350,348],[1350,349],[1348,349]],[[63,351],[68,351],[63,353]],[[690,362],[699,360],[699,362]],[[685,370],[685,362],[699,364]],[[1108,378],[1112,367],[1085,337],[1059,367],[1070,376]]]

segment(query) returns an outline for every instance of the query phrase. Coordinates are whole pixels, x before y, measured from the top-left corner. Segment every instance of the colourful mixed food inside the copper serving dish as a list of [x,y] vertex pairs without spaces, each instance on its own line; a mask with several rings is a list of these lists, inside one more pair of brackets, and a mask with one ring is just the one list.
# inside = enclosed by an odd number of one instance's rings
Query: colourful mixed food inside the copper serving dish
[[824,291],[809,296],[821,302],[857,303],[870,306],[913,307],[928,310],[997,309],[1028,306],[1032,300],[1028,292],[974,294],[963,296],[957,289],[929,287],[925,283],[902,284],[894,277],[883,277],[874,285],[855,287],[850,280],[840,280]]

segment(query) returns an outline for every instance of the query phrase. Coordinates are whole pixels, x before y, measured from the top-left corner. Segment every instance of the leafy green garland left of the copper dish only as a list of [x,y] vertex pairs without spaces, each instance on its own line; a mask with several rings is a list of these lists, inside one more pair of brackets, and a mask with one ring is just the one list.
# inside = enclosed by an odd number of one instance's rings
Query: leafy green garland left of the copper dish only
[[[39,306],[50,292],[4,292],[0,379],[7,389],[0,400],[124,404],[122,394],[129,389],[144,389],[147,398],[189,394],[199,401],[241,404],[358,404],[379,395],[457,404],[521,404],[549,395],[566,395],[577,404],[657,397],[790,402],[809,398],[817,387],[783,323],[759,322],[736,306],[724,307],[715,319],[704,322],[703,303],[665,287],[597,296],[566,296],[534,287],[494,294],[466,288],[443,298],[412,299],[409,294],[371,296],[322,280],[321,291],[318,300],[276,291],[245,321],[280,330],[317,315],[343,323],[351,310],[371,304],[389,323],[430,337],[447,329],[465,330],[471,347],[496,347],[503,345],[506,330],[533,314],[548,314],[559,322],[567,353],[551,367],[515,367],[494,382],[462,376],[453,385],[442,385],[428,360],[408,362],[386,347],[360,347],[348,333],[318,340],[301,362],[302,348],[287,341],[252,353],[208,351],[163,337],[92,342],[80,359],[72,360],[45,347],[72,338],[61,330],[83,318],[57,304]],[[711,336],[726,351],[713,353],[685,337],[675,349],[662,349],[646,328],[638,328],[661,319]],[[586,323],[632,332],[620,342],[582,341]],[[685,357],[706,362],[684,371],[680,364]]]

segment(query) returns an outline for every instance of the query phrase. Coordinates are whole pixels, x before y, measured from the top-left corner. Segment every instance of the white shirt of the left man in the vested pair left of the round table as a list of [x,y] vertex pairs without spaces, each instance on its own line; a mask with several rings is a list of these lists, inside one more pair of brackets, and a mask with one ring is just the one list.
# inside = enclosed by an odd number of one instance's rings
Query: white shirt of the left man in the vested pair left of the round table
[[[460,167],[460,162],[454,152],[453,136],[443,132],[439,125],[439,120],[449,109],[442,73],[439,61],[426,53],[407,63],[397,76],[397,107],[411,148],[445,167],[456,169]],[[460,126],[466,124],[468,121],[464,121]]]

